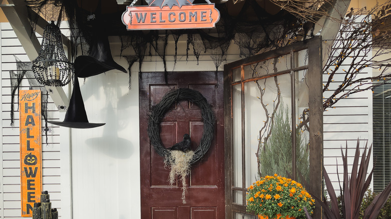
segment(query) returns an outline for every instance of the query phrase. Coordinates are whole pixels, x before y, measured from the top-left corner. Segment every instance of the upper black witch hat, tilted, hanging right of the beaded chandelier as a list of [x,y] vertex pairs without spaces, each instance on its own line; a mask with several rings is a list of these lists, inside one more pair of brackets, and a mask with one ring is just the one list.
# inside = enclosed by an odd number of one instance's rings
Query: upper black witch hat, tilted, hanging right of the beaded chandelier
[[78,77],[90,77],[108,70],[127,71],[114,61],[111,55],[109,38],[104,34],[95,34],[90,55],[79,55],[75,58],[75,74]]

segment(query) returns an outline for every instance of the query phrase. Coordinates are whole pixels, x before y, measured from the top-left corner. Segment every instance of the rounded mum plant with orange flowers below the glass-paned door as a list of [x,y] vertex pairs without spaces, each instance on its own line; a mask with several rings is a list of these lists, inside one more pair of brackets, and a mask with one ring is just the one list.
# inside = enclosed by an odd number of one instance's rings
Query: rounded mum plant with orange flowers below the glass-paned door
[[247,211],[259,219],[305,217],[304,207],[312,213],[315,202],[300,183],[277,174],[250,185],[246,200]]

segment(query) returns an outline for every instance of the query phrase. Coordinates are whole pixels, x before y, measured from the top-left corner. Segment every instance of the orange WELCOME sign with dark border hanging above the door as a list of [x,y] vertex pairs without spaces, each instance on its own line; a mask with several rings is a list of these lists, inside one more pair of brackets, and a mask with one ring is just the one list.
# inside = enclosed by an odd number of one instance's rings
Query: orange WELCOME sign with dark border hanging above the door
[[208,4],[192,4],[193,0],[146,0],[148,6],[128,6],[122,22],[128,30],[212,28],[220,12]]

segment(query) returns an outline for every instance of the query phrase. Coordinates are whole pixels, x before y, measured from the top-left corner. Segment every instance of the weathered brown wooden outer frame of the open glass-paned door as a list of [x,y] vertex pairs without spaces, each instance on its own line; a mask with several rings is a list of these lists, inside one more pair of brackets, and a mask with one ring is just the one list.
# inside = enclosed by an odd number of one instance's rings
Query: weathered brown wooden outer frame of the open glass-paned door
[[[233,211],[246,213],[244,205],[233,203],[233,112],[232,112],[232,69],[244,64],[278,57],[291,51],[308,48],[309,72],[309,145],[310,145],[310,187],[311,194],[318,197],[323,195],[323,105],[322,105],[322,38],[315,36],[311,39],[295,42],[284,47],[237,60],[224,65],[224,134],[225,134],[225,175],[226,175],[226,219],[232,219]],[[312,55],[313,54],[313,55]],[[313,218],[321,218],[321,207],[314,209]]]

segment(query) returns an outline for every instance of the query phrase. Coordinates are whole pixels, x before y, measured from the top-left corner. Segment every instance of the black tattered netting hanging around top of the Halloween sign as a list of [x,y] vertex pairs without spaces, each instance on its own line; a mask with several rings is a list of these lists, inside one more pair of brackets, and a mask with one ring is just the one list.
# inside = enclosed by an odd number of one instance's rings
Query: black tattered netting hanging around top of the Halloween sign
[[[14,55],[15,56],[15,55]],[[14,125],[14,99],[15,95],[18,97],[18,101],[16,102],[18,104],[19,108],[19,90],[22,83],[22,79],[26,76],[28,82],[29,82],[29,88],[30,89],[40,89],[41,90],[41,114],[44,117],[45,120],[45,127],[43,128],[43,132],[46,136],[46,144],[48,144],[48,132],[51,131],[51,129],[48,127],[48,96],[49,93],[46,90],[45,86],[42,86],[38,80],[35,78],[33,70],[32,70],[32,63],[31,62],[23,62],[18,57],[15,56],[15,61],[17,65],[17,70],[10,70],[10,76],[11,76],[11,125]],[[16,92],[18,91],[18,93]]]

